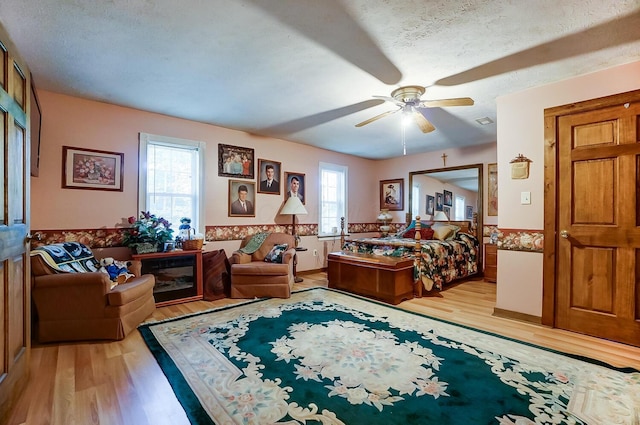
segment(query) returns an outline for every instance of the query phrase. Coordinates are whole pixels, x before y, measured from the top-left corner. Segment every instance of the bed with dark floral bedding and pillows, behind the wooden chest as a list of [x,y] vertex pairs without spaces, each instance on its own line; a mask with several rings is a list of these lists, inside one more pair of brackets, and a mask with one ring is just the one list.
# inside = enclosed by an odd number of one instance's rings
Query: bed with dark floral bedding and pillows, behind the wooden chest
[[[416,295],[478,273],[479,241],[474,221],[432,222],[416,217],[396,235],[345,238],[343,252],[412,258]],[[431,231],[429,231],[431,230]],[[447,234],[451,232],[451,234]]]

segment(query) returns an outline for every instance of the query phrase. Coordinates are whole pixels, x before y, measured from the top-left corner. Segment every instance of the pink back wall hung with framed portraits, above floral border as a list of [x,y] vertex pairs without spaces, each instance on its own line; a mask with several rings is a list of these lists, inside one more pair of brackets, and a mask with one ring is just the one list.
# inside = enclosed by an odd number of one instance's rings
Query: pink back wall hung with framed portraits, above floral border
[[[257,194],[256,217],[228,217],[227,177],[218,176],[218,144],[255,149],[255,158],[282,163],[282,171],[306,177],[306,216],[299,223],[318,222],[318,163],[349,167],[349,221],[375,222],[379,211],[379,180],[404,178],[414,170],[442,166],[441,152],[373,161],[339,154],[308,145],[254,136],[241,131],[144,112],[57,93],[38,92],[42,108],[40,175],[31,178],[31,228],[95,229],[127,226],[125,220],[137,215],[138,135],[140,132],[178,137],[206,143],[205,225],[288,224],[289,217],[277,212],[283,196]],[[124,153],[124,190],[107,192],[62,188],[62,146],[84,147]],[[495,144],[482,148],[451,149],[447,165],[495,162]],[[405,190],[406,192],[406,190]],[[405,208],[408,207],[405,195]],[[404,222],[404,212],[396,212],[394,222]],[[309,251],[299,255],[298,270],[326,266],[326,254],[338,249],[336,242],[302,238]],[[208,243],[206,249],[237,249],[238,241]],[[317,249],[317,257],[312,255]]]

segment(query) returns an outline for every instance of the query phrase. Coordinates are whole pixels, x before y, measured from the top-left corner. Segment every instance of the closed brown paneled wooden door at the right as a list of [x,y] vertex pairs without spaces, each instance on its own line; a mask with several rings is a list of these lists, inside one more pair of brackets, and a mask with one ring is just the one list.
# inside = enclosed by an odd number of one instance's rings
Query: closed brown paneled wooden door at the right
[[545,311],[554,308],[558,328],[640,346],[640,91],[564,112],[554,123],[557,221],[545,242],[555,248],[555,305],[545,294]]

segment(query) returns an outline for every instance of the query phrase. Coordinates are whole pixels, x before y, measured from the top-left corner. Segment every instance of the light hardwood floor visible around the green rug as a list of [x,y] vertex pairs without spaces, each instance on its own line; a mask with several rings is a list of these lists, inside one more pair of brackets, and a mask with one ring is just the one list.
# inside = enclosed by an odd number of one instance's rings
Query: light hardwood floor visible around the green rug
[[[326,286],[326,274],[303,275],[294,289]],[[640,348],[492,316],[495,285],[471,280],[438,297],[405,301],[407,310],[469,325],[563,352],[640,370]],[[162,320],[238,300],[197,301],[156,310]],[[31,380],[9,425],[158,425],[188,420],[140,333],[117,342],[38,345],[31,350]]]

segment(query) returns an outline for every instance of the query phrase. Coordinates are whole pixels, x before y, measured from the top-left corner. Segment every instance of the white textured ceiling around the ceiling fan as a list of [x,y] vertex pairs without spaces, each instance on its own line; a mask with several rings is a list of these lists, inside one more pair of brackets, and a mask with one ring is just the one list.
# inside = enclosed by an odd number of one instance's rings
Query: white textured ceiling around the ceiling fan
[[[2,0],[37,87],[365,158],[494,142],[496,97],[640,60],[638,0]],[[46,113],[46,111],[43,111]]]

